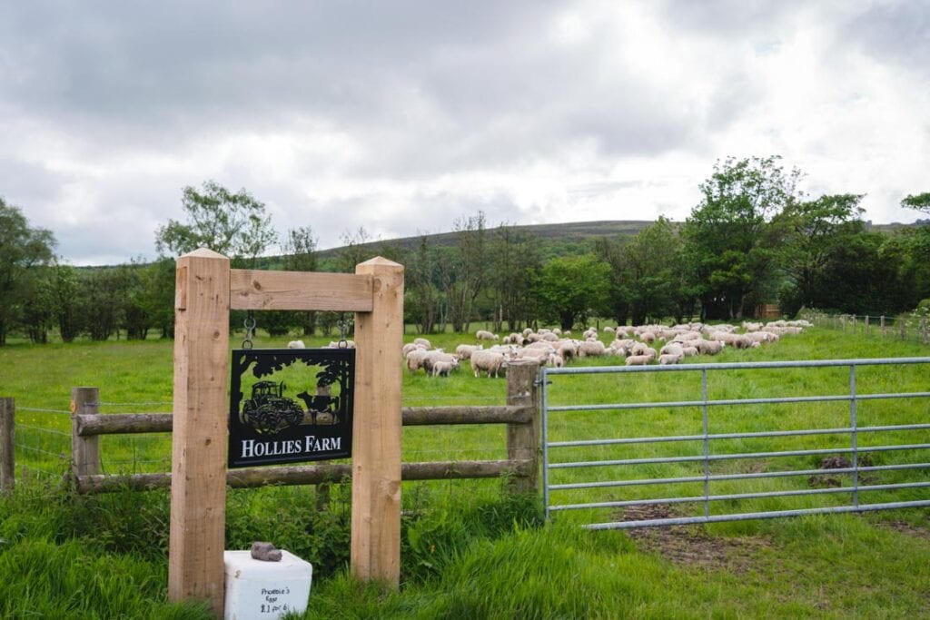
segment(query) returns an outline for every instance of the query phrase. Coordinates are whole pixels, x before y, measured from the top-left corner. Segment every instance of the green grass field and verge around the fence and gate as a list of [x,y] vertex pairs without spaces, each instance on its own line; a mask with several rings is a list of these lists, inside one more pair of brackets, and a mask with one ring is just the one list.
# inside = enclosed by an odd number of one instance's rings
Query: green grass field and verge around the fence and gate
[[[264,338],[256,346],[280,346],[286,339]],[[431,339],[447,349],[471,341],[470,336],[458,335]],[[171,351],[171,343],[160,341],[17,344],[0,349],[0,367],[5,369],[0,395],[16,397],[18,443],[25,446],[17,458],[20,469],[27,468],[27,478],[17,491],[0,498],[0,617],[206,616],[197,606],[166,602],[168,494],[74,495],[59,482],[66,468],[68,416],[38,411],[66,412],[70,389],[80,385],[100,387],[105,413],[169,411]],[[919,345],[815,329],[758,350],[724,350],[712,359],[928,354],[930,350]],[[503,379],[476,379],[467,368],[462,370],[448,379],[405,373],[405,405],[503,402]],[[622,385],[616,376],[593,381],[591,377],[585,381],[556,377],[551,393],[557,402],[573,403],[616,402],[618,392],[624,399],[648,400],[657,394],[693,397],[694,377],[674,375],[624,376]],[[925,366],[914,373],[863,372],[857,379],[862,391],[930,390]],[[830,393],[835,382],[844,380],[848,379],[842,371],[737,373],[715,379],[711,397]],[[715,430],[842,426],[844,416],[848,423],[848,405],[845,409],[843,405],[778,405],[743,414],[721,416],[715,421],[721,426]],[[925,400],[870,403],[862,405],[861,415],[870,424],[930,421]],[[604,414],[562,417],[552,420],[552,432],[558,434],[554,439],[690,433],[699,425],[695,412],[673,410],[628,412],[620,420]],[[906,438],[898,439],[904,442]],[[910,442],[926,440],[926,433],[910,438]],[[796,440],[770,438],[752,440],[739,449],[798,445]],[[800,445],[806,447],[804,442]],[[656,448],[642,449],[645,452],[633,454],[649,454]],[[684,450],[684,446],[666,446],[661,454],[672,455],[675,450]],[[104,468],[110,472],[166,471],[170,467],[166,437],[107,437],[101,452]],[[504,452],[502,429],[410,428],[404,433],[407,461],[500,458]],[[597,451],[591,455],[603,456]],[[810,457],[802,459],[801,464],[805,463],[816,467]],[[678,475],[689,468],[693,466],[653,466],[650,473]],[[643,472],[619,475],[638,477]],[[900,476],[902,480],[927,479],[925,469]],[[806,479],[758,482],[753,488],[764,491],[786,485],[809,488]],[[686,485],[673,489],[682,495],[694,492]],[[337,484],[331,493],[329,508],[324,510],[316,508],[315,491],[310,487],[231,491],[228,496],[228,548],[272,539],[313,562],[307,617],[930,617],[930,511],[923,508],[590,532],[577,523],[611,517],[609,511],[601,515],[558,513],[547,524],[538,499],[510,497],[503,492],[501,481],[408,482],[404,486],[402,587],[398,593],[384,594],[348,576],[350,490],[347,484]],[[930,498],[926,489],[906,495]],[[641,495],[611,495],[628,496]],[[572,495],[571,501],[597,498],[586,491]],[[811,501],[753,500],[749,508],[793,508]],[[819,505],[823,501],[817,498]]]

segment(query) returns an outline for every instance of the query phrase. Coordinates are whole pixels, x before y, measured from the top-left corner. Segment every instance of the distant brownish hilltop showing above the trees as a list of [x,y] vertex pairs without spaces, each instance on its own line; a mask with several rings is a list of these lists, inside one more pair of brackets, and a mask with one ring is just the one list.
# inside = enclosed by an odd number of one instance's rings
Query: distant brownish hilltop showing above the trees
[[[649,220],[601,220],[594,222],[568,222],[565,224],[535,224],[531,226],[510,226],[514,231],[524,232],[527,235],[557,241],[564,244],[581,244],[594,237],[616,237],[618,235],[634,235],[655,222]],[[494,228],[487,231],[492,232]],[[437,232],[425,235],[432,247],[448,247],[456,244],[456,232]],[[377,250],[379,247],[389,245],[404,250],[415,250],[419,245],[420,237],[400,237],[398,239],[382,239],[367,244],[361,244],[364,249]],[[331,247],[320,250],[317,255],[322,258],[334,258],[339,255],[342,247]]]

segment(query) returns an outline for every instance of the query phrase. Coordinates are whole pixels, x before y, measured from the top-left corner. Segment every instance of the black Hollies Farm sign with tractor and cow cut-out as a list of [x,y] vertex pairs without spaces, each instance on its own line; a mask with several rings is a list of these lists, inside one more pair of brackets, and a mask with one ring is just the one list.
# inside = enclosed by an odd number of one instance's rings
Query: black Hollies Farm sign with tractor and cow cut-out
[[352,455],[353,349],[233,350],[229,467]]

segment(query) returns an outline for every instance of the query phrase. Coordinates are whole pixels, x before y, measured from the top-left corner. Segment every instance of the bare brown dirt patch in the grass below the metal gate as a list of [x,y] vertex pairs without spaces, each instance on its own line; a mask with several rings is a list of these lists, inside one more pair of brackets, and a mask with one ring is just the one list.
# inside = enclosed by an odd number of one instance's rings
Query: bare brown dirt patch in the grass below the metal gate
[[[623,521],[639,521],[678,515],[668,506],[643,505],[626,508],[619,516]],[[771,541],[761,536],[709,536],[695,525],[637,527],[627,530],[627,534],[646,553],[658,553],[676,564],[736,574],[747,573],[756,553],[772,547]]]

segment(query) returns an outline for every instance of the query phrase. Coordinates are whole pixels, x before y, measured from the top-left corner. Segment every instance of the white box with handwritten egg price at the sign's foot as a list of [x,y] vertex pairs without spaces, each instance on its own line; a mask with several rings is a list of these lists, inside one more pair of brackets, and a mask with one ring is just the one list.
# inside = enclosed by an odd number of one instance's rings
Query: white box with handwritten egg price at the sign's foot
[[281,561],[260,561],[251,551],[224,551],[224,620],[264,620],[307,610],[313,567],[281,549]]

